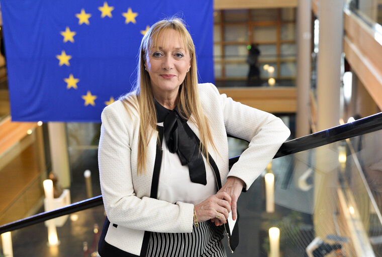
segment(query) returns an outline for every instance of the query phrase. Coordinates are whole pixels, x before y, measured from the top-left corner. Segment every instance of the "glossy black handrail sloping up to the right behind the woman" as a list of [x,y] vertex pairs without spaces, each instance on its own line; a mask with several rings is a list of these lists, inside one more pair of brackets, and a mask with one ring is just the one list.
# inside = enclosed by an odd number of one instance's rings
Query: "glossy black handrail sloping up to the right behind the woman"
[[[305,137],[290,140],[281,145],[274,158],[285,155],[295,154],[316,147],[331,144],[337,141],[353,138],[366,133],[378,131],[382,129],[382,112],[358,119],[351,123],[346,123],[331,129],[320,131]],[[230,158],[230,167],[237,162],[239,156]],[[57,218],[73,212],[96,207],[103,204],[102,196],[96,196],[80,202],[72,203],[65,207],[52,211],[42,212],[24,219],[20,219],[8,224],[0,226],[0,234],[15,229],[20,229],[36,223],[43,222],[48,219]]]

